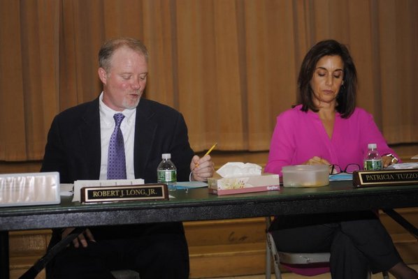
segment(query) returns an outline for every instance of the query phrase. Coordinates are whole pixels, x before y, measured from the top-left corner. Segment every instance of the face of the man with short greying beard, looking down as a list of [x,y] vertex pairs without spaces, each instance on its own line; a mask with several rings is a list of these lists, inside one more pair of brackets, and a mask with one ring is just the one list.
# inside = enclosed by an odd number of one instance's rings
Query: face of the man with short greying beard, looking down
[[113,53],[108,71],[99,68],[103,103],[119,112],[134,109],[147,84],[147,74],[145,56],[129,47],[120,47]]

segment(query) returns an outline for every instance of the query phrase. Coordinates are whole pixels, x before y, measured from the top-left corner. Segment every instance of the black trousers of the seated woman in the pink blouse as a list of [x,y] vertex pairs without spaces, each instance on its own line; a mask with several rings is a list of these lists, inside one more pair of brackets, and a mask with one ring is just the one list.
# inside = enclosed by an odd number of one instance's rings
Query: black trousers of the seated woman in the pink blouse
[[331,276],[367,278],[388,271],[402,259],[372,211],[280,216],[270,229],[283,252],[330,252]]

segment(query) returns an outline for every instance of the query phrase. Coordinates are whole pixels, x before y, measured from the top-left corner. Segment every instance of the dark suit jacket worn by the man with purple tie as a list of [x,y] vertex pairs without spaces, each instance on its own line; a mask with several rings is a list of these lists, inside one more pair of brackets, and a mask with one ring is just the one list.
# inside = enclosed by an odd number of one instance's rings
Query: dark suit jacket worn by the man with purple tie
[[[48,133],[41,172],[59,172],[61,183],[99,179],[100,140],[99,98],[61,112],[55,116]],[[171,107],[141,99],[136,108],[135,177],[144,179],[145,183],[156,182],[162,153],[171,153],[173,163],[178,169],[178,181],[189,181],[190,162],[194,152],[189,145],[185,119]],[[143,231],[145,227],[129,227],[126,231],[127,234],[138,235],[139,229]],[[146,230],[148,229],[150,228],[147,227]],[[178,229],[182,230],[181,223],[175,225],[175,230]],[[94,230],[96,239],[109,237],[115,232],[124,237],[123,227]],[[57,230],[55,233],[57,234]]]

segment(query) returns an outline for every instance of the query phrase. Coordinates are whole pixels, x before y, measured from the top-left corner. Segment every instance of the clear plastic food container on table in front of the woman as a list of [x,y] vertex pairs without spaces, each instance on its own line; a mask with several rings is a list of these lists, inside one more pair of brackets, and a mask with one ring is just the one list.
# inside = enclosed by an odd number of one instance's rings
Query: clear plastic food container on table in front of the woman
[[292,165],[282,168],[284,187],[321,187],[329,184],[329,166]]

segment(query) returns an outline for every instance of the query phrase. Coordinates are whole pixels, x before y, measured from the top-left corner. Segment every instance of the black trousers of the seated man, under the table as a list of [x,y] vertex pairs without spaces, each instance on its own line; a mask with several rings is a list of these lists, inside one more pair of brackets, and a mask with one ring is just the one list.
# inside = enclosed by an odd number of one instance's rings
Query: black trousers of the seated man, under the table
[[[189,252],[182,223],[91,228],[96,242],[72,245],[47,266],[47,278],[113,279],[131,269],[147,278],[189,278]],[[57,239],[52,239],[50,246]]]

